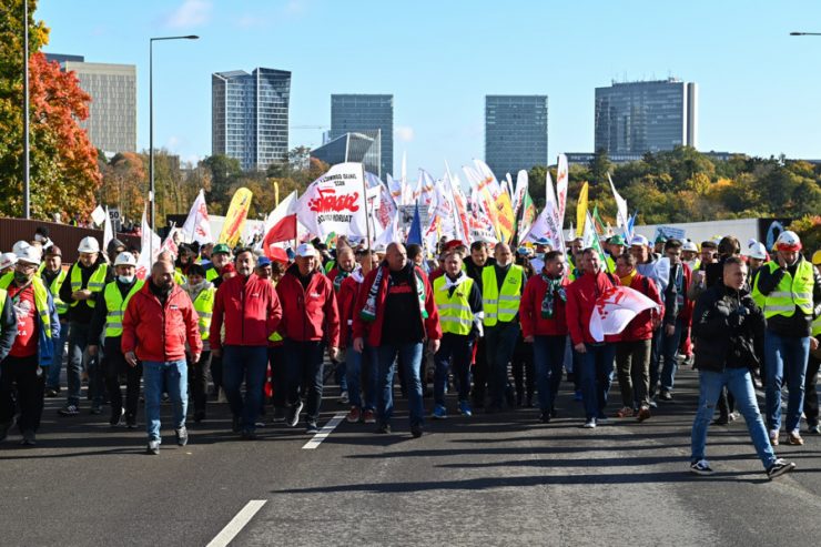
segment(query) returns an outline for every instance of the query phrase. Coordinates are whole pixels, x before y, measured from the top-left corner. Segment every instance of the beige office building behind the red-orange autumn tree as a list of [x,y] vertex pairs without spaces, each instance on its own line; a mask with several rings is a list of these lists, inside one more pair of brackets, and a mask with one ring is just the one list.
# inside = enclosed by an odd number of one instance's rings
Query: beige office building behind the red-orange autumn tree
[[84,62],[81,55],[47,53],[45,59],[72,71],[91,95],[89,118],[80,122],[91,144],[108,152],[136,150],[136,67]]

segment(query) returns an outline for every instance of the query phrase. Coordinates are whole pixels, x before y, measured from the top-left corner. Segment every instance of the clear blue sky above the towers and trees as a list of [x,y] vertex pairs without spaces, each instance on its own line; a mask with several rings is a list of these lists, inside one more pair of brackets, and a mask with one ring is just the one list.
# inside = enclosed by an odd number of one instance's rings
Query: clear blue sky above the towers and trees
[[[821,158],[821,2],[40,0],[44,51],[138,67],[139,136],[211,153],[211,73],[292,71],[291,125],[330,125],[332,93],[393,93],[395,170],[484,156],[486,94],[549,95],[551,162],[591,151],[594,89],[676,75],[699,84],[699,149]],[[290,145],[321,144],[292,129]]]

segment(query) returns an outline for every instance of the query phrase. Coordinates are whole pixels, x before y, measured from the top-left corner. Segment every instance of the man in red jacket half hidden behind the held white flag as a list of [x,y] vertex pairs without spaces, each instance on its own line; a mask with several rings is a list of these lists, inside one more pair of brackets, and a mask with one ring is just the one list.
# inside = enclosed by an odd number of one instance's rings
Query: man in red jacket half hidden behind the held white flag
[[629,253],[616,257],[616,275],[624,286],[634,288],[659,305],[657,308],[645,310],[638,314],[621,333],[616,344],[616,366],[618,369],[619,387],[621,389],[622,407],[618,412],[620,418],[627,418],[635,413],[638,403],[638,419],[643,422],[650,417],[650,346],[652,333],[658,328],[663,315],[663,303],[656,288],[656,283],[636,270],[636,257]]

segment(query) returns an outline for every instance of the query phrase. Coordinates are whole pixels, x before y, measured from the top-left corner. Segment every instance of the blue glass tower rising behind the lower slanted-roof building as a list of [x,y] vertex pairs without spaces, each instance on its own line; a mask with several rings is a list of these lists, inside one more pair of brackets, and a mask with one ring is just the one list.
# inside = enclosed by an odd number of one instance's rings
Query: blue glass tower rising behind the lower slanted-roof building
[[379,131],[379,172],[384,178],[394,173],[394,95],[331,95],[331,139],[345,133],[367,135]]

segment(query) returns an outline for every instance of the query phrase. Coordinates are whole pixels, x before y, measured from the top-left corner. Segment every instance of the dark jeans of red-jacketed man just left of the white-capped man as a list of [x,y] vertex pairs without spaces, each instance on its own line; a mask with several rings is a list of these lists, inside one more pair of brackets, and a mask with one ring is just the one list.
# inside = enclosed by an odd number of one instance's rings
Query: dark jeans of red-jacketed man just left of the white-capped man
[[[267,346],[225,346],[222,354],[222,381],[231,413],[242,418],[242,428],[253,432],[262,407],[262,388],[268,365]],[[243,401],[242,382],[245,381]]]

